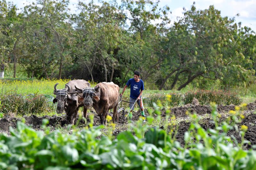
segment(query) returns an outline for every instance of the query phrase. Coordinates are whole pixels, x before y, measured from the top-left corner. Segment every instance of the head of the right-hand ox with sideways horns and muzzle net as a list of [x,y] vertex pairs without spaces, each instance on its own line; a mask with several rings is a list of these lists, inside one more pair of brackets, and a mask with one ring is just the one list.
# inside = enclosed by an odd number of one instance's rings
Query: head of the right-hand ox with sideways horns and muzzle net
[[83,97],[81,97],[79,100],[80,100],[80,102],[84,102],[85,108],[92,107],[93,101],[98,102],[100,100],[100,98],[95,95],[96,92],[99,92],[100,85],[98,85],[94,88],[87,87],[84,89],[80,89],[80,88],[76,87],[76,85],[75,85],[75,88],[77,90],[80,90],[83,93]]

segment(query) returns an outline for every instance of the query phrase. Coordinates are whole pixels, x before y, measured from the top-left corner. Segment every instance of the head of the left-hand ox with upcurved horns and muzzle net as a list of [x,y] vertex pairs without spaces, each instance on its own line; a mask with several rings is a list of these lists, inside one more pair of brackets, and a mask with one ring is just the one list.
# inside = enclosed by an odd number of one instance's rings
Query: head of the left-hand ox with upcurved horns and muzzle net
[[68,89],[56,89],[56,86],[59,83],[56,83],[54,85],[54,90],[56,91],[56,97],[53,99],[53,103],[57,103],[57,113],[62,113],[64,111],[64,106],[67,105],[67,100],[68,100],[68,92],[70,90],[70,86],[66,84]]

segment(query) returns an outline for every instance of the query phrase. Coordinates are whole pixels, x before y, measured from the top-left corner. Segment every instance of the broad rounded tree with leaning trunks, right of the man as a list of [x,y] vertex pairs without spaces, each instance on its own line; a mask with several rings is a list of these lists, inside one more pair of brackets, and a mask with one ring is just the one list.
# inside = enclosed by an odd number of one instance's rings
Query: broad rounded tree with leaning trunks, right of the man
[[[178,90],[198,77],[222,81],[227,70],[233,72],[231,74],[229,71],[228,77],[234,77],[234,73],[242,70],[245,74],[251,75],[251,71],[244,65],[246,59],[241,58],[241,45],[237,46],[237,42],[240,41],[238,34],[240,33],[234,18],[221,17],[220,11],[214,9],[214,6],[196,11],[192,5],[191,10],[184,12],[184,17],[175,23],[167,34],[168,41],[164,42],[168,44],[165,54],[169,55],[166,58],[172,62],[172,69],[163,80],[160,89],[175,72],[177,73],[172,87],[180,80]],[[234,61],[240,64],[235,64]],[[180,75],[184,78],[179,79]]]

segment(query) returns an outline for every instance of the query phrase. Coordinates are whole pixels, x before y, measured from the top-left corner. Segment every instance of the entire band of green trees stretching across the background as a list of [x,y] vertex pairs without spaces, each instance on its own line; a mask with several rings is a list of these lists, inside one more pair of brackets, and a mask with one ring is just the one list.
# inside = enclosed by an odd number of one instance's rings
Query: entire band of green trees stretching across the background
[[140,70],[145,87],[160,90],[255,83],[254,31],[212,5],[197,10],[193,4],[170,25],[170,8],[159,1],[79,2],[79,13],[68,4],[38,1],[19,10],[0,2],[5,75],[123,85]]

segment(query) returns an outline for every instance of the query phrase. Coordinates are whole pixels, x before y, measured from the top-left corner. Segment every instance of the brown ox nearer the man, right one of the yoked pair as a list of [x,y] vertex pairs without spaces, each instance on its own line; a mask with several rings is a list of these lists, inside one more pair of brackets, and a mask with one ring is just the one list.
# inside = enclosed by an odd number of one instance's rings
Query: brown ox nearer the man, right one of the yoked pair
[[[83,98],[80,98],[80,102],[84,100],[85,107],[93,107],[96,113],[100,116],[101,124],[107,125],[106,117],[108,110],[113,108],[113,122],[117,115],[119,86],[113,82],[102,82],[97,84],[94,88],[78,88],[77,90],[83,92]],[[119,116],[117,115],[117,122]]]

